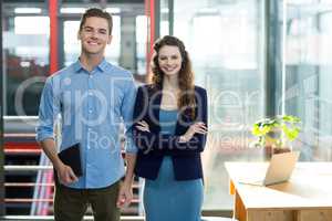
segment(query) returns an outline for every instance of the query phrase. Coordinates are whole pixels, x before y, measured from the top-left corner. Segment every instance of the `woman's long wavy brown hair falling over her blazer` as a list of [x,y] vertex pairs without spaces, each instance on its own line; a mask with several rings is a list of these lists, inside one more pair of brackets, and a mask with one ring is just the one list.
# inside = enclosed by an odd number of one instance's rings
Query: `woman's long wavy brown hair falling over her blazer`
[[189,54],[186,51],[185,44],[176,36],[165,35],[157,40],[154,44],[155,54],[152,63],[152,86],[156,90],[163,88],[164,73],[159,67],[158,56],[159,50],[165,46],[177,46],[179,49],[183,62],[178,73],[179,96],[177,106],[180,110],[185,109],[186,113],[194,119],[195,118],[195,85],[194,85],[194,72],[191,70],[191,61]]

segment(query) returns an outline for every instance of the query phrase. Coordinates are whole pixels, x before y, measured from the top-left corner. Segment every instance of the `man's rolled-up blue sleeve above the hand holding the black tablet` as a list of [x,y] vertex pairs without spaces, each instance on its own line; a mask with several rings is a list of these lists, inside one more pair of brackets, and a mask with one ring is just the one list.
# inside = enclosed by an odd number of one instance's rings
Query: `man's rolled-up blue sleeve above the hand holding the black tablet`
[[54,119],[60,113],[60,102],[53,86],[53,77],[49,77],[45,82],[39,107],[39,120],[37,126],[38,141],[46,138],[54,139]]

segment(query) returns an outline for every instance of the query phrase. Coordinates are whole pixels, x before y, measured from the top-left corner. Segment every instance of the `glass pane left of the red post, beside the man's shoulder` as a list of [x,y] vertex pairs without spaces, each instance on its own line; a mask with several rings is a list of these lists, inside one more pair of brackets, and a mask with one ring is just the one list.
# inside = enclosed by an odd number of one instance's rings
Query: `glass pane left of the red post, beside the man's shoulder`
[[4,115],[37,115],[49,74],[49,17],[4,12],[3,20]]

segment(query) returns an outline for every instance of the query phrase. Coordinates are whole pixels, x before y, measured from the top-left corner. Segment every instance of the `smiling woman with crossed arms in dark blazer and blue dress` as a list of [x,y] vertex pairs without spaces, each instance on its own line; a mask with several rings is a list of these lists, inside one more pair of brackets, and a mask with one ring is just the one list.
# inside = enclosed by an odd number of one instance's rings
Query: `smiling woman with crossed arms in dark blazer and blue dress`
[[194,85],[180,40],[166,35],[154,50],[152,84],[137,91],[133,127],[138,147],[135,172],[145,178],[146,221],[198,221],[207,94]]

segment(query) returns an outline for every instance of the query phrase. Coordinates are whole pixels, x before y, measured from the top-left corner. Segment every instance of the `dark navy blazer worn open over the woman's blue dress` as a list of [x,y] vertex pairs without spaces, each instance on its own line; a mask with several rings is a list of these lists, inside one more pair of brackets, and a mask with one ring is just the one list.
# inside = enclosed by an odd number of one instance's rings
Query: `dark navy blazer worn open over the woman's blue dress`
[[[156,179],[164,156],[172,156],[176,180],[203,178],[200,152],[206,144],[206,135],[195,134],[187,143],[179,143],[195,122],[204,122],[207,126],[207,94],[206,90],[195,86],[196,117],[193,120],[188,109],[181,109],[176,123],[175,135],[160,134],[159,110],[160,90],[151,85],[138,87],[134,107],[133,139],[138,147],[135,173],[138,177]],[[141,131],[135,126],[145,120],[151,131]]]

